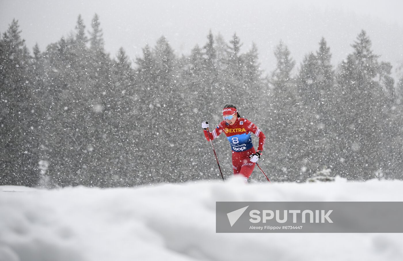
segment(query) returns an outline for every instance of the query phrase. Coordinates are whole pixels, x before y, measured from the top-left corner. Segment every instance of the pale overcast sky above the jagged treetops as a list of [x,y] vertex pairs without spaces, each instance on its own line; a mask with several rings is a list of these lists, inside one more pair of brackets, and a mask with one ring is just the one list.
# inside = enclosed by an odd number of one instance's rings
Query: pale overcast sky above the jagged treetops
[[43,51],[74,31],[79,14],[89,30],[97,13],[106,50],[114,56],[123,46],[131,59],[162,35],[178,54],[189,54],[196,44],[206,43],[210,29],[227,41],[236,32],[243,42],[241,51],[255,42],[262,69],[270,72],[280,39],[298,66],[324,36],[337,65],[351,52],[361,29],[367,31],[381,60],[397,65],[403,61],[402,10],[402,0],[0,0],[0,32],[18,19],[27,46],[31,49],[37,42]]

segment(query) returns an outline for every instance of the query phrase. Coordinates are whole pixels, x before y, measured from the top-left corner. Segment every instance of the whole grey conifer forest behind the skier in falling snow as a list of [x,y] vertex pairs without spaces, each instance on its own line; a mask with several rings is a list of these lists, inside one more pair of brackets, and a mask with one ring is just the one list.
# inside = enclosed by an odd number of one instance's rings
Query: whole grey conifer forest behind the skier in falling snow
[[[331,63],[318,39],[301,63],[276,39],[272,72],[253,44],[215,32],[189,54],[161,36],[128,57],[104,49],[100,19],[26,46],[10,21],[0,37],[0,185],[131,187],[220,179],[201,123],[215,128],[234,104],[266,135],[260,166],[277,182],[318,173],[349,180],[403,179],[403,74],[374,53],[365,31]],[[258,139],[254,137],[256,144]],[[224,135],[214,140],[232,176]],[[252,181],[265,181],[256,168]]]

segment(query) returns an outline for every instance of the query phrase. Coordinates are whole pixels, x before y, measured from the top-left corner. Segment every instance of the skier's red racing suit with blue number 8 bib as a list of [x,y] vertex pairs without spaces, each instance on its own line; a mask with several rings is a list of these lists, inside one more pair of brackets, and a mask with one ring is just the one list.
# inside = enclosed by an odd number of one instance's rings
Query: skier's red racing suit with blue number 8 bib
[[210,139],[215,139],[222,132],[225,133],[231,145],[234,175],[239,174],[249,178],[256,165],[249,159],[249,155],[256,153],[252,144],[251,133],[259,137],[258,151],[263,151],[266,136],[253,122],[245,118],[237,118],[233,125],[222,121],[214,131],[204,130],[204,136],[210,141]]

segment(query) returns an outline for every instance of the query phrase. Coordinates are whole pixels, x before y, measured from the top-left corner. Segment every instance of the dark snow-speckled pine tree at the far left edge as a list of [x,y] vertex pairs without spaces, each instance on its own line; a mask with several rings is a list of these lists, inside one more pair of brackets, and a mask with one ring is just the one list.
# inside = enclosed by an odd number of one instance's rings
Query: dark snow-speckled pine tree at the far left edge
[[38,180],[31,57],[13,20],[0,39],[0,184],[34,185]]

